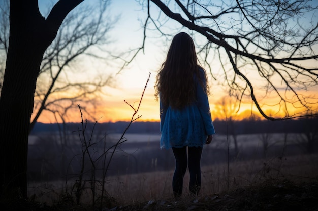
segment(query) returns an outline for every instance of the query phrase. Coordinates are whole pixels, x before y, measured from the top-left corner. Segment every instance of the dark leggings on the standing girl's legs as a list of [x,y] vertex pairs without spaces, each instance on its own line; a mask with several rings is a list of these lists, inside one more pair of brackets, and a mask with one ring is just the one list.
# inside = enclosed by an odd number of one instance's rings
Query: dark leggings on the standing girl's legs
[[[183,177],[187,166],[190,172],[190,193],[198,195],[201,186],[201,154],[202,147],[172,148],[176,159],[176,168],[172,179],[172,190],[175,198],[182,194]],[[187,152],[186,152],[187,151]]]

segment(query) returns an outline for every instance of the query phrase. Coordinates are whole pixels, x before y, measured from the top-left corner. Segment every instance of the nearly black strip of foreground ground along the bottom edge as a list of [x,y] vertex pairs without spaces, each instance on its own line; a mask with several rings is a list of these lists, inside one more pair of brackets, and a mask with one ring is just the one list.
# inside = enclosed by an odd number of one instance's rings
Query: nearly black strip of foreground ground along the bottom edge
[[199,198],[182,198],[180,201],[157,200],[120,205],[109,200],[103,207],[75,205],[69,199],[61,199],[52,206],[28,202],[25,200],[11,201],[1,204],[2,210],[33,210],[33,211],[84,211],[84,210],[217,210],[217,211],[316,211],[318,210],[318,178],[307,182],[294,183],[289,180],[266,181],[262,184],[241,187],[228,193],[215,194]]

